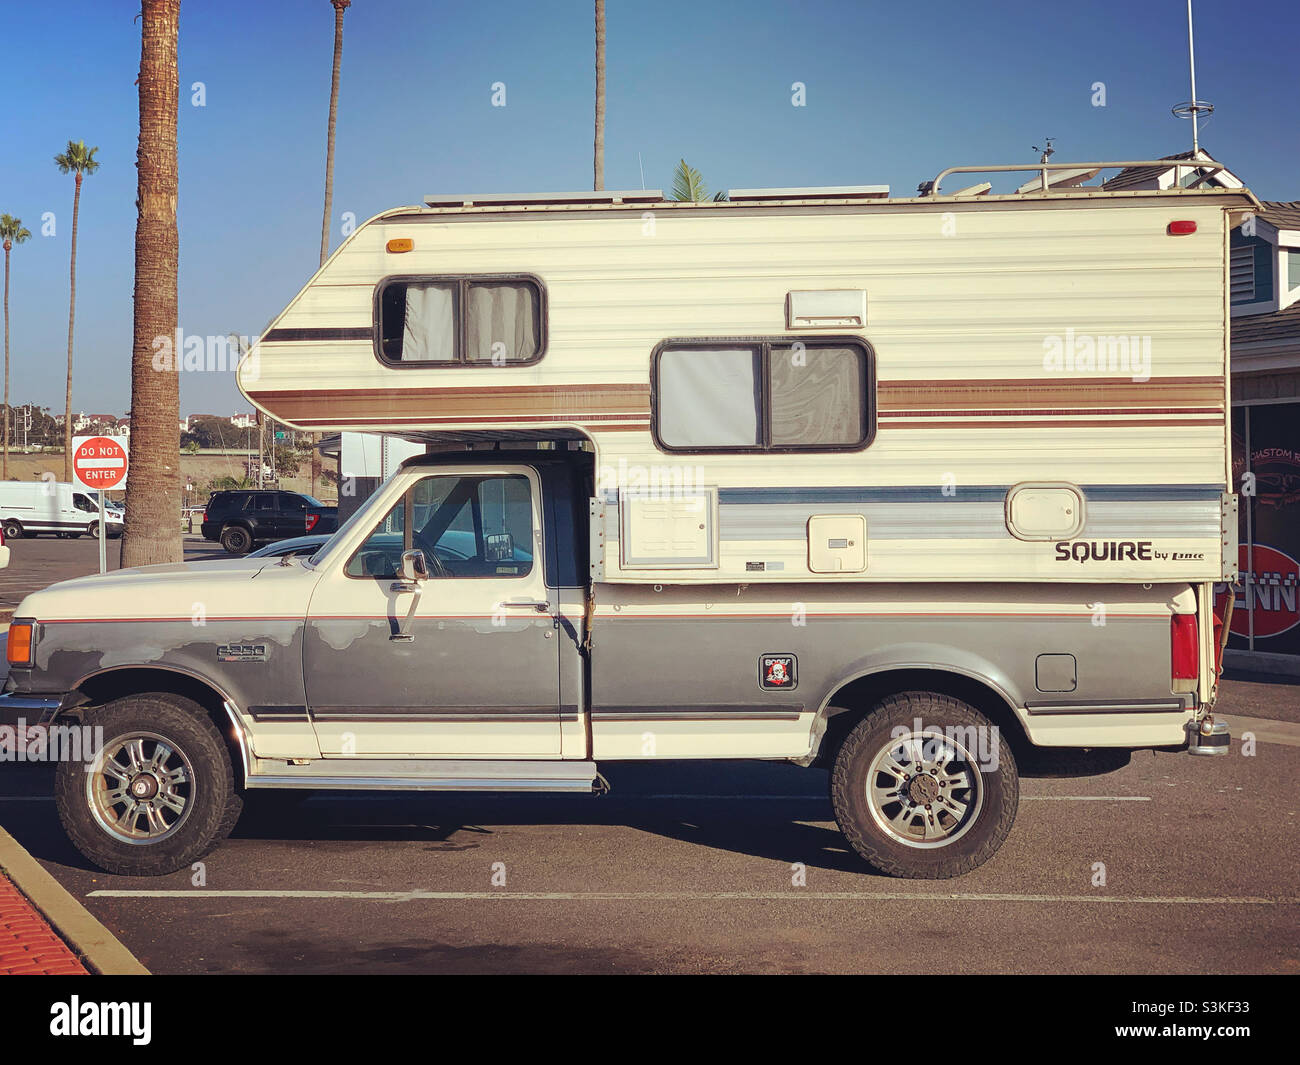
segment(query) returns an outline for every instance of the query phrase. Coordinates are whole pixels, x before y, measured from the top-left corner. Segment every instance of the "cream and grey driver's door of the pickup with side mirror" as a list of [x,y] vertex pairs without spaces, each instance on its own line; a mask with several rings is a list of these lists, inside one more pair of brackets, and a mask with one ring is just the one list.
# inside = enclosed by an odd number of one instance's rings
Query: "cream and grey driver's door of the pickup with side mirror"
[[[402,579],[407,550],[424,553],[428,579]],[[536,471],[458,466],[415,480],[312,596],[303,668],[321,752],[558,756],[560,641],[543,559]]]

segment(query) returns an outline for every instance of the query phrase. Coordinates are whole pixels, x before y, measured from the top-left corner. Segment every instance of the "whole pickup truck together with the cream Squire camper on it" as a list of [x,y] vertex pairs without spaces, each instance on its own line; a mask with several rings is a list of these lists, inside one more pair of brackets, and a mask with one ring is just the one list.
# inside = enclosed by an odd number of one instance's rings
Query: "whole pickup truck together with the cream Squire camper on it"
[[829,770],[876,869],[944,878],[997,850],[1043,749],[1226,753],[1227,241],[1258,203],[949,173],[360,226],[239,385],[426,454],[309,559],[23,601],[0,720],[104,730],[56,775],[73,843],[169,873],[260,788],[763,758]]

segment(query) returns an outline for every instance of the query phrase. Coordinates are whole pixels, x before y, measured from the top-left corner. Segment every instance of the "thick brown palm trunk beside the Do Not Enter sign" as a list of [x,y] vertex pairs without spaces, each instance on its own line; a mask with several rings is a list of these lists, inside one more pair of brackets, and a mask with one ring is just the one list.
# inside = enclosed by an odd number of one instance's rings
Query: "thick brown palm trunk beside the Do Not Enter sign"
[[122,566],[179,562],[181,378],[153,368],[153,338],[177,326],[176,228],[181,0],[140,0],[140,140],[135,194],[135,322],[131,347],[131,472]]

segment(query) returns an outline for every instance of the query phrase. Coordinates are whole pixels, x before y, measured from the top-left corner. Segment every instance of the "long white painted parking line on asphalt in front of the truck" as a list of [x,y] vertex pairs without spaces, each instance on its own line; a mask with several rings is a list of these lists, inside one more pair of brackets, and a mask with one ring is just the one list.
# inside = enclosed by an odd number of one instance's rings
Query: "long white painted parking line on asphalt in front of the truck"
[[1300,897],[1193,895],[996,895],[913,891],[125,891],[101,888],[87,899],[337,899],[355,902],[692,902],[692,901],[818,901],[818,902],[1086,902],[1158,906],[1295,906]]

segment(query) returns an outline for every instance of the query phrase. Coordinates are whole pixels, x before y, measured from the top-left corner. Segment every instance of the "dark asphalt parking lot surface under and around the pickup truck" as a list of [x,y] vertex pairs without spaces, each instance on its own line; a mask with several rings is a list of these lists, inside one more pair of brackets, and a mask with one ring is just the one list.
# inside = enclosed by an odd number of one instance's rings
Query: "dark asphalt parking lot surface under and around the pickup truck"
[[270,797],[150,879],[87,867],[46,767],[0,765],[0,823],[155,973],[1296,973],[1300,687],[1234,677],[1221,711],[1283,741],[1026,779],[1001,852],[946,882],[872,874],[826,775],[777,763],[608,765],[604,797]]

